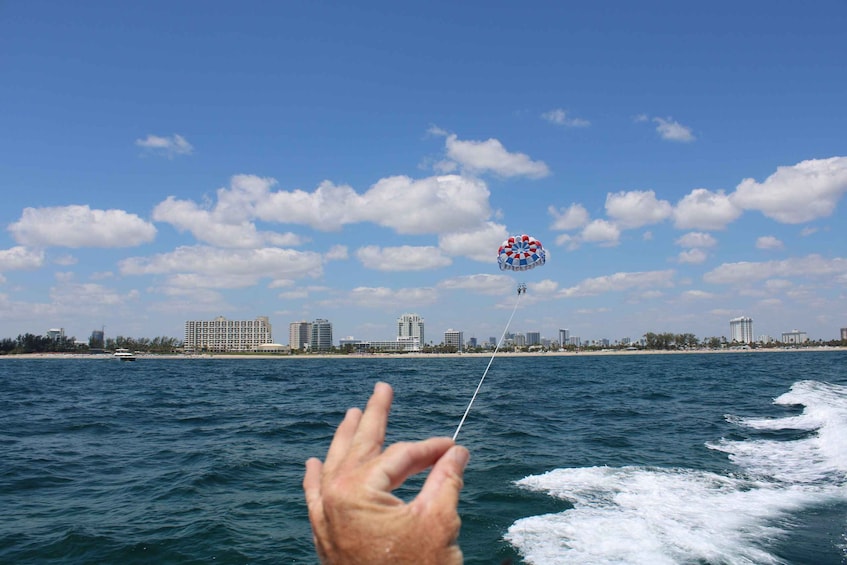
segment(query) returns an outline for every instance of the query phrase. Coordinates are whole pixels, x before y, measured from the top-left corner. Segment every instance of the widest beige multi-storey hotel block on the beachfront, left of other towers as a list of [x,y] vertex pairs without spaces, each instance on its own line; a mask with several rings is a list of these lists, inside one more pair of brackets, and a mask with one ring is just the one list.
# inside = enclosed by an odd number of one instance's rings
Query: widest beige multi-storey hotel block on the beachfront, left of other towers
[[185,322],[186,353],[258,351],[269,343],[273,343],[273,337],[267,316],[255,320],[227,320],[218,316],[214,320]]

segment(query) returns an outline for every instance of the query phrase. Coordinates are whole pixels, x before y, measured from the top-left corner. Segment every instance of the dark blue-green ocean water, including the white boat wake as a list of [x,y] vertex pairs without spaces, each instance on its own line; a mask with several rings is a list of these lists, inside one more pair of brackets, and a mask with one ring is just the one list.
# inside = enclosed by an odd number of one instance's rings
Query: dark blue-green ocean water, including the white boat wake
[[[346,408],[451,435],[487,362],[0,360],[0,562],[316,563]],[[847,563],[845,352],[500,357],[458,439],[469,564]]]

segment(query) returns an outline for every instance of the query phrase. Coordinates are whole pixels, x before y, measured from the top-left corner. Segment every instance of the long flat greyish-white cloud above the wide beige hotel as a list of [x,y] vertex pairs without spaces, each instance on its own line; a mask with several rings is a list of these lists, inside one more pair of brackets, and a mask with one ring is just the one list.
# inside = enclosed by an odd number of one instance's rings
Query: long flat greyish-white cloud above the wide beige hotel
[[[319,253],[267,247],[262,249],[219,249],[183,246],[152,257],[130,257],[118,266],[124,275],[179,274],[183,280],[203,287],[216,284],[214,278],[234,287],[255,284],[260,278],[297,279],[322,273]],[[194,277],[188,279],[185,277]],[[229,277],[229,278],[228,278]],[[207,281],[204,284],[204,281]]]

